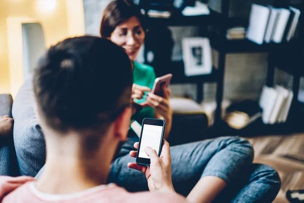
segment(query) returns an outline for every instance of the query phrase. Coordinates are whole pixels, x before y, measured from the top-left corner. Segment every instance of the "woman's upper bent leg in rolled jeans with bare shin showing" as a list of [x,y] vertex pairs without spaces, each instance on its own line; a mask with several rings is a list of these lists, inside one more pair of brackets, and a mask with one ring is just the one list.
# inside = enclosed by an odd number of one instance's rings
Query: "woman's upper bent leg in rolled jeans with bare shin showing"
[[222,137],[171,148],[172,179],[176,191],[189,200],[211,201],[253,160],[247,140]]

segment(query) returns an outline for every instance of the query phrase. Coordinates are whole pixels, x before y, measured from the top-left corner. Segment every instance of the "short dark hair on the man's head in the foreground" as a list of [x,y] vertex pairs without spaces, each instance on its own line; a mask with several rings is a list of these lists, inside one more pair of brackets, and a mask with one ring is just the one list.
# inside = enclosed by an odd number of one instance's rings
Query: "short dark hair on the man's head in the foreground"
[[131,70],[125,51],[107,39],[63,40],[47,51],[34,71],[37,109],[59,132],[100,129],[129,105]]

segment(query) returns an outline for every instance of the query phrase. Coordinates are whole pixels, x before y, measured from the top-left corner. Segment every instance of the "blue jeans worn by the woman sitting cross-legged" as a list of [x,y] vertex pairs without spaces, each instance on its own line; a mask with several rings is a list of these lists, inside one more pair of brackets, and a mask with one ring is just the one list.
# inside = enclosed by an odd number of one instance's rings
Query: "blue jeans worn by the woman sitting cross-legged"
[[[145,191],[145,176],[127,166],[128,162],[135,162],[129,156],[134,142],[138,142],[137,137],[129,138],[123,145],[112,163],[108,182],[130,192]],[[173,186],[184,196],[205,176],[219,177],[227,183],[214,202],[272,202],[281,187],[272,167],[252,164],[253,149],[245,139],[222,137],[173,146],[170,150]]]

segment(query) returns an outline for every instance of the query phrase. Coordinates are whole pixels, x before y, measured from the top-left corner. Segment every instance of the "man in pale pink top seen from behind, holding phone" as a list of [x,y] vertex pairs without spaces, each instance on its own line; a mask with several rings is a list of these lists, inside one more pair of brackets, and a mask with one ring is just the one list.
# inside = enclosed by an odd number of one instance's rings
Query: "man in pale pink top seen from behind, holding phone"
[[166,141],[162,159],[145,149],[149,189],[158,192],[131,194],[106,184],[130,127],[131,70],[125,51],[98,37],[66,39],[48,50],[33,76],[45,171],[37,181],[0,177],[2,202],[185,202],[173,189]]

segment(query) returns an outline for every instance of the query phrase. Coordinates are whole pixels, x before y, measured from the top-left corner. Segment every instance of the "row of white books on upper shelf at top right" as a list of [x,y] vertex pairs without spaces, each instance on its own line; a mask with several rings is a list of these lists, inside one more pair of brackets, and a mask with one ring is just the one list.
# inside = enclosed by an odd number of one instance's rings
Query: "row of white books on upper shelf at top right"
[[253,4],[246,38],[256,44],[288,42],[294,37],[300,10]]

